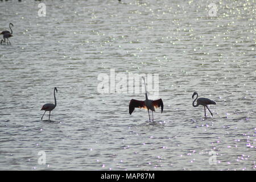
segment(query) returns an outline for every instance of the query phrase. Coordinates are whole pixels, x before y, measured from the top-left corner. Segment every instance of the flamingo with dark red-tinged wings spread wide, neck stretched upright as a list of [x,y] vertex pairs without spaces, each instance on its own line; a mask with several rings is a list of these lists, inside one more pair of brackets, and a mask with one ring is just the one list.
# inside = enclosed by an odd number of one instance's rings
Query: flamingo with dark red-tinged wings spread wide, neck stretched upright
[[161,106],[161,113],[163,113],[163,100],[161,98],[159,100],[154,100],[154,101],[148,100],[145,78],[142,77],[142,79],[144,81],[144,86],[145,86],[146,100],[138,101],[138,100],[132,99],[129,104],[129,114],[131,115],[131,113],[133,113],[135,107],[147,109],[148,117],[149,117],[149,121],[150,121],[149,110],[152,110],[152,121],[154,122],[153,111],[155,111],[155,108],[158,108]]

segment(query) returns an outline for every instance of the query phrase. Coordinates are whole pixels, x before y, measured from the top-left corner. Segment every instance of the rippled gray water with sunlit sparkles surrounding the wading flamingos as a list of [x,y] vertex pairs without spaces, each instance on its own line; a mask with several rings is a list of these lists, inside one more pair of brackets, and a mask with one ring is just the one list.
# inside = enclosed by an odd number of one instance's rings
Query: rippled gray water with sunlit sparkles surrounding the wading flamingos
[[[1,170],[255,170],[255,1],[42,2],[0,2]],[[163,113],[99,93],[110,69],[158,73]]]

